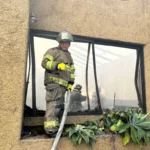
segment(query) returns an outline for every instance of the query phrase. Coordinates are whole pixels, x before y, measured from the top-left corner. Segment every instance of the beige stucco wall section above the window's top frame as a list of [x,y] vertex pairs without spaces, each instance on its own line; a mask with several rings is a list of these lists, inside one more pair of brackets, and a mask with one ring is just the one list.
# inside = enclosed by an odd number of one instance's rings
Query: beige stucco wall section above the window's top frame
[[149,0],[32,0],[34,29],[129,41],[149,42]]

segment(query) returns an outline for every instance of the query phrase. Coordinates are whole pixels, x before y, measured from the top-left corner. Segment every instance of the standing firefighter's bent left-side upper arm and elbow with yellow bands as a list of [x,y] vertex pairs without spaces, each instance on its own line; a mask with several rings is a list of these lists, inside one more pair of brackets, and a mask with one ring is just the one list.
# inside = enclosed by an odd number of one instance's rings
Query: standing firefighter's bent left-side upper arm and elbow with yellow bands
[[41,66],[46,70],[55,70],[58,62],[55,60],[55,53],[49,49],[43,56]]

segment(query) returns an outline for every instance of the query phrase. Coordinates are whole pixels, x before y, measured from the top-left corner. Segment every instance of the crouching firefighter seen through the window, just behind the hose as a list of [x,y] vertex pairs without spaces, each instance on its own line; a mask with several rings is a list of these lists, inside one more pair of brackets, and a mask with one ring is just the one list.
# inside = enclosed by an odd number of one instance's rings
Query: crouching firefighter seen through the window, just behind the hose
[[82,96],[81,89],[82,86],[80,84],[77,84],[74,87],[73,91],[71,92],[70,107],[69,107],[70,112],[78,112],[83,110],[81,102],[86,100],[86,96]]

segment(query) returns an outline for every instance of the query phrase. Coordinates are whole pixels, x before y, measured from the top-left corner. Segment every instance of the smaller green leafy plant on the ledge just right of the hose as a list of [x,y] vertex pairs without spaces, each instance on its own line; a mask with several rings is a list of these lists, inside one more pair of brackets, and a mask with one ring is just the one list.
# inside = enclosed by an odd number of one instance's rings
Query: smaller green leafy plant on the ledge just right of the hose
[[83,125],[74,124],[67,128],[66,133],[70,139],[72,139],[73,145],[81,144],[85,141],[86,144],[92,147],[92,143],[96,140],[96,135],[102,134],[102,130],[99,128],[98,121],[87,121]]

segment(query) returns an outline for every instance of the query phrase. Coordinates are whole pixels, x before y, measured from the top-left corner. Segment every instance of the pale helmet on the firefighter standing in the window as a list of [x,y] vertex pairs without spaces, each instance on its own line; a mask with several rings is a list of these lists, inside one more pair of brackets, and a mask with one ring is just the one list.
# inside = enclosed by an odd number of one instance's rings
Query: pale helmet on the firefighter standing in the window
[[66,30],[60,32],[56,39],[58,42],[73,42],[73,36]]

